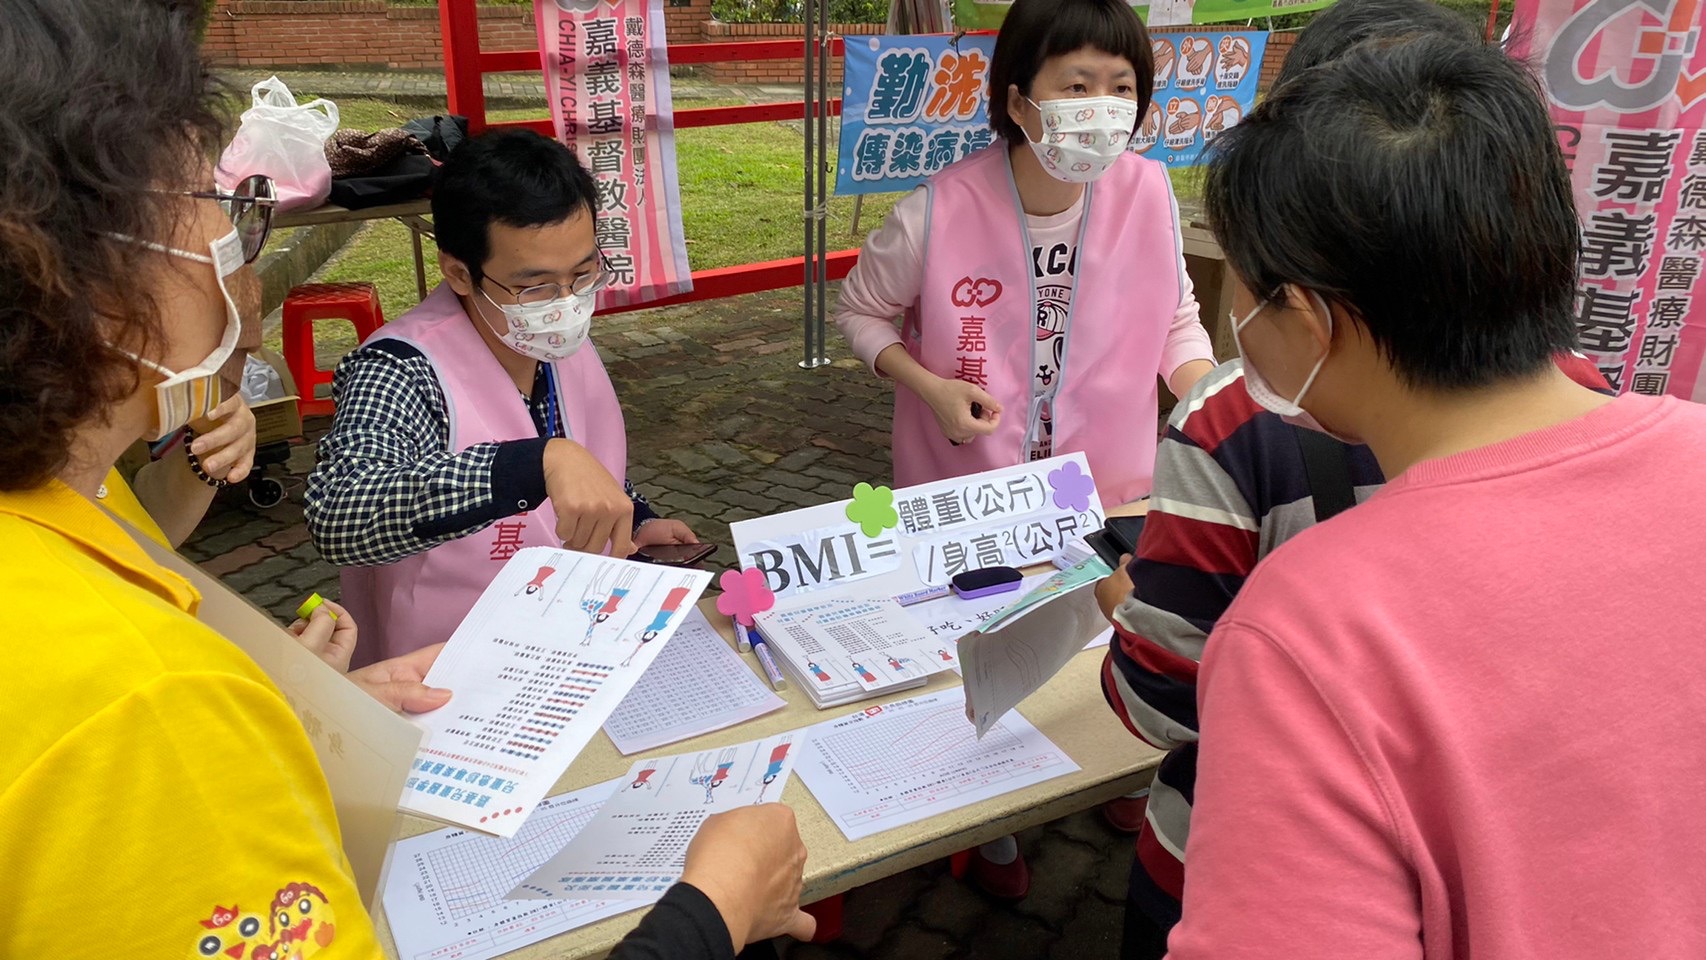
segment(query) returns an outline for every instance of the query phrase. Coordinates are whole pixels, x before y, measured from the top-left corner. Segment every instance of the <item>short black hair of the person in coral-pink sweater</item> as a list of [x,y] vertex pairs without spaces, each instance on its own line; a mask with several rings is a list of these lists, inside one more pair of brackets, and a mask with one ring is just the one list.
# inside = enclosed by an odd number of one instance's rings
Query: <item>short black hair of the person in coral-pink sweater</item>
[[1262,300],[1338,302],[1413,387],[1537,373],[1575,344],[1576,210],[1541,89],[1483,43],[1365,43],[1210,147],[1204,208]]

